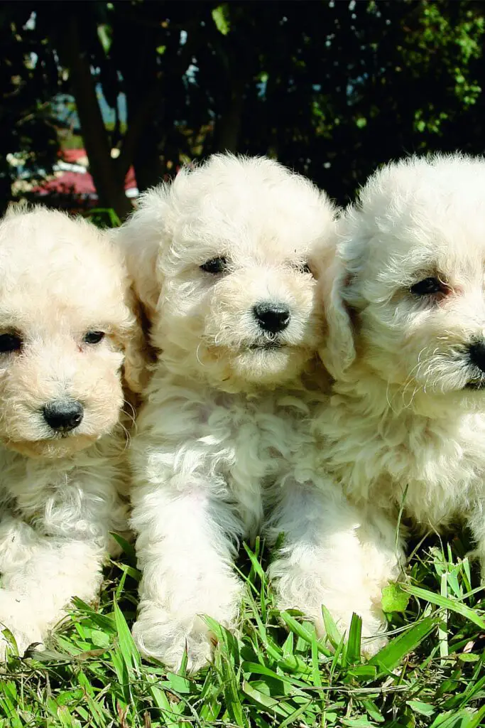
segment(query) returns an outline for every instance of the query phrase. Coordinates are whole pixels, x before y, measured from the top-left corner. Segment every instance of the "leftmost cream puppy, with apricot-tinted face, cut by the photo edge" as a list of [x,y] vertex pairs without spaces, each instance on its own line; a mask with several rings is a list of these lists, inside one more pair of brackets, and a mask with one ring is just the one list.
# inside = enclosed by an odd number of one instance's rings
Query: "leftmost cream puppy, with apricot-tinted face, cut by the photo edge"
[[121,370],[132,390],[143,375],[131,297],[86,221],[41,207],[0,221],[0,632],[21,654],[73,596],[95,597],[110,531],[127,531]]

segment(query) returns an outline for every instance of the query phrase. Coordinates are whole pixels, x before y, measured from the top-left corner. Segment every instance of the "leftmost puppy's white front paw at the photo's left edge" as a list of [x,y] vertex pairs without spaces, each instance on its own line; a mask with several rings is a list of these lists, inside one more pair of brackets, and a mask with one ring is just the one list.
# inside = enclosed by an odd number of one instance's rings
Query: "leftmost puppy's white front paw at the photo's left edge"
[[22,596],[0,590],[0,662],[7,660],[7,651],[10,643],[3,630],[9,630],[17,644],[20,657],[23,657],[25,650],[31,644],[36,644],[36,649],[41,649],[44,635],[39,625],[36,624],[35,606],[25,603]]

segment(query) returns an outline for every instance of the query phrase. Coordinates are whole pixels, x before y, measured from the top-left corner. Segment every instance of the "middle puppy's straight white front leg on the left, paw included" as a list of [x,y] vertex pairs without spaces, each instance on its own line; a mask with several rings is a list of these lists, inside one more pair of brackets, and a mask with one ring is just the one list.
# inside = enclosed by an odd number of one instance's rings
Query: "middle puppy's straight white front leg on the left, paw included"
[[232,558],[241,525],[201,483],[182,492],[140,488],[134,500],[143,579],[133,636],[140,652],[175,670],[186,648],[188,668],[198,670],[212,651],[202,615],[226,627],[236,620],[241,583]]

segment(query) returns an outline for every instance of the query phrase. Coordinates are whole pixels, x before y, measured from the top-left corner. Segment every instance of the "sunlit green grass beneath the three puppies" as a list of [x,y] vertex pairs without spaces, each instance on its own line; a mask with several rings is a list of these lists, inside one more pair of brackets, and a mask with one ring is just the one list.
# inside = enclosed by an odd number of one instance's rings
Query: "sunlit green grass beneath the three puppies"
[[129,632],[139,575],[127,547],[97,609],[77,602],[46,652],[9,660],[0,727],[485,726],[485,600],[460,540],[417,549],[402,590],[387,595],[405,611],[390,615],[388,646],[369,662],[357,617],[345,640],[326,614],[326,642],[297,613],[276,611],[260,551],[239,565],[239,633],[210,622],[214,662],[193,677],[140,660]]

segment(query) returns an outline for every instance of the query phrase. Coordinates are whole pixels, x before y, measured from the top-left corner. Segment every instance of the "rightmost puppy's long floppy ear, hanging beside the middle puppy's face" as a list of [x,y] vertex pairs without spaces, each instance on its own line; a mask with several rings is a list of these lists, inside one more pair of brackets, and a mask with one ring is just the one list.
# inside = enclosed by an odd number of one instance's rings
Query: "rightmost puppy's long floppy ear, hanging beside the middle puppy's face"
[[321,275],[327,335],[324,346],[318,352],[334,379],[342,379],[356,357],[353,325],[343,295],[348,284],[349,274],[335,245],[329,265]]

